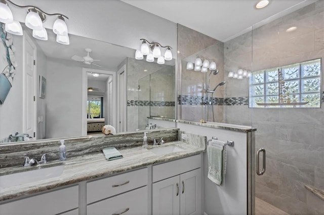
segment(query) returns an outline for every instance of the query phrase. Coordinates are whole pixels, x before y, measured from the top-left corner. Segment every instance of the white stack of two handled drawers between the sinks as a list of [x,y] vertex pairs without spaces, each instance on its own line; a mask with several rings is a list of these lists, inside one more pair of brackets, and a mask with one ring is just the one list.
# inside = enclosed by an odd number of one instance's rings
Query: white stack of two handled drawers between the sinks
[[87,183],[87,214],[148,213],[147,168]]

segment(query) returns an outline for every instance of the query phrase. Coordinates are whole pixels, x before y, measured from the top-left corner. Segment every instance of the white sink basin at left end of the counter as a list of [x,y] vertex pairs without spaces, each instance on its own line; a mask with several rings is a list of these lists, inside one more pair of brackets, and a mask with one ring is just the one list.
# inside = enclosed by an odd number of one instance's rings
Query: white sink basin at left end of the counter
[[13,187],[62,175],[64,165],[0,176],[0,188]]

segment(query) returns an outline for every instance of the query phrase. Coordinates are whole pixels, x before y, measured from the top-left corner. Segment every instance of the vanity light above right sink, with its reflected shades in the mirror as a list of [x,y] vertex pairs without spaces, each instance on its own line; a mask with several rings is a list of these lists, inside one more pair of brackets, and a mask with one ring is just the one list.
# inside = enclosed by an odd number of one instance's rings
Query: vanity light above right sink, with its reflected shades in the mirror
[[[171,61],[172,60],[172,47],[162,46],[158,42],[149,42],[146,39],[140,39],[143,40],[141,49],[136,50],[135,52],[135,59],[136,60],[142,60],[144,59],[144,55],[146,55],[146,61],[147,62],[153,62],[154,58],[157,58],[156,63],[158,64],[164,64],[165,61]],[[166,52],[164,53],[164,56],[161,55],[161,48],[167,48]]]

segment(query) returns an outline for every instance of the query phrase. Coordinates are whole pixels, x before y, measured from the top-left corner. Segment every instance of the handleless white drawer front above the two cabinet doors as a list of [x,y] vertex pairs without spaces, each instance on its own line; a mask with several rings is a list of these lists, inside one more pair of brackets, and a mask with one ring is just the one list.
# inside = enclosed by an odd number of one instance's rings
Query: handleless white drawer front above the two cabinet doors
[[153,166],[153,182],[160,181],[181,173],[200,168],[201,155],[197,154],[190,157],[174,160],[172,162]]

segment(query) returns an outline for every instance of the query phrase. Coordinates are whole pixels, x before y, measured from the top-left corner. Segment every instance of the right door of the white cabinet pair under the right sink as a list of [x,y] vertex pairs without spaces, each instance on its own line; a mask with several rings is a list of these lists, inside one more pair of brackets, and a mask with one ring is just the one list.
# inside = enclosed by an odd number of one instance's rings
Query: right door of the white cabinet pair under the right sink
[[201,214],[200,168],[180,175],[180,214]]

